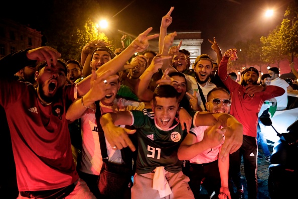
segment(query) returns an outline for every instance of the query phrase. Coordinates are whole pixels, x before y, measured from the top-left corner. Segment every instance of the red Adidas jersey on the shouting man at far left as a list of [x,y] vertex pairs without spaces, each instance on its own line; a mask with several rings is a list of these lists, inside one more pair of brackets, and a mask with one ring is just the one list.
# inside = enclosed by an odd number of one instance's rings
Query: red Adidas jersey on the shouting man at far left
[[31,84],[0,80],[0,104],[10,127],[19,191],[55,189],[78,179],[65,118],[74,84],[50,105],[40,103]]

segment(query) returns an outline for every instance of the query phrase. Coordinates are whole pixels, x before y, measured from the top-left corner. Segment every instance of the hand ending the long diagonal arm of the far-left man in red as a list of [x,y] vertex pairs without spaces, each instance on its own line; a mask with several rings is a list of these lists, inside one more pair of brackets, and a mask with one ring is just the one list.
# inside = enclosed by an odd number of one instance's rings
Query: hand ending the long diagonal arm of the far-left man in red
[[149,46],[148,40],[157,38],[159,34],[148,35],[152,31],[152,27],[139,34],[135,40],[131,42],[131,46],[135,49],[135,52],[142,52]]

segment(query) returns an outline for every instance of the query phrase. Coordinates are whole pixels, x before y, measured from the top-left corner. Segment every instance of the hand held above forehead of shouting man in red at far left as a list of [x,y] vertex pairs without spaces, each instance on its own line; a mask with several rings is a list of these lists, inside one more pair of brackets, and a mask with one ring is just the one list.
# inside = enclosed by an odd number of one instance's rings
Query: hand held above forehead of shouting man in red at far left
[[44,61],[47,60],[47,64],[51,66],[51,59],[54,66],[57,64],[57,59],[61,57],[61,54],[50,46],[42,46],[34,48],[27,52],[27,58],[30,60]]

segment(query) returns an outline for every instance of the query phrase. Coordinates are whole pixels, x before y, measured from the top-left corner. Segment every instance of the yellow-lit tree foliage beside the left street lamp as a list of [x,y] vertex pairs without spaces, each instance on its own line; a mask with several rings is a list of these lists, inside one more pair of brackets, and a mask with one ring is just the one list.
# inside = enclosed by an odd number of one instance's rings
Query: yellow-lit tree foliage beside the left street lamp
[[44,32],[46,45],[56,48],[65,60],[80,61],[82,48],[94,39],[108,42],[103,33],[98,33],[94,14],[101,8],[95,0],[54,1],[53,13]]

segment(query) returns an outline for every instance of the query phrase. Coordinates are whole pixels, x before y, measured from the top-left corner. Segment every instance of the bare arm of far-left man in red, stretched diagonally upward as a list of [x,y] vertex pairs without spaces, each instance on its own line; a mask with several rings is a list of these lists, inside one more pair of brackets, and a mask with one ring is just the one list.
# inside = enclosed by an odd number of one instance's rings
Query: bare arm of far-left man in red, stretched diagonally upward
[[[121,52],[118,56],[103,64],[100,68],[96,70],[96,74],[101,74],[104,71],[109,71],[107,76],[116,74],[116,72],[122,71],[125,69],[124,64],[126,61],[135,53],[142,52],[148,46],[148,40],[157,38],[159,34],[148,35],[152,31],[152,28],[148,28],[143,33],[139,34],[137,38],[135,38],[132,43]],[[84,78],[82,81],[78,83],[77,91],[78,96],[82,96],[90,89],[90,75]]]

